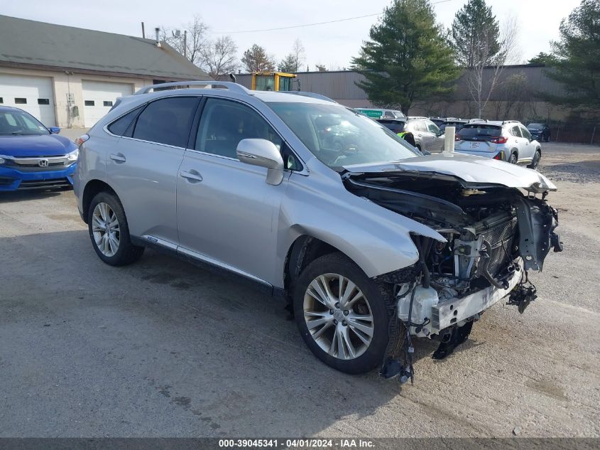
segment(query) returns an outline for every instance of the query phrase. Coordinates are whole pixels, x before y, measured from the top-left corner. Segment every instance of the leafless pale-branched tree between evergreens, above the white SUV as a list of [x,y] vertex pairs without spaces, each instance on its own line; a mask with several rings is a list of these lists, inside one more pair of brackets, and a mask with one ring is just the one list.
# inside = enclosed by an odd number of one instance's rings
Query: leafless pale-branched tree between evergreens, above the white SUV
[[464,75],[467,90],[476,105],[477,117],[481,117],[492,93],[500,84],[504,66],[520,59],[518,29],[518,21],[513,16],[503,22],[500,31],[500,50],[492,58],[491,65],[488,64],[496,36],[492,36],[489,32],[481,33],[481,41],[474,49],[473,65]]

